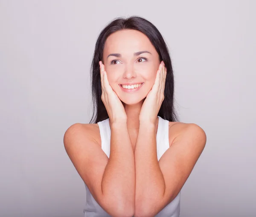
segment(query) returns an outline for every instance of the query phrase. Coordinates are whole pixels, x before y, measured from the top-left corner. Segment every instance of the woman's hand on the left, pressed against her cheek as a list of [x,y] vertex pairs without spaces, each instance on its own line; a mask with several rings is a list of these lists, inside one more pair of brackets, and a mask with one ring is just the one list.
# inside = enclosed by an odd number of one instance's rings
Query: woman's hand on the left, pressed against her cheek
[[102,61],[99,62],[100,66],[100,78],[102,86],[102,96],[101,99],[105,105],[108,112],[109,122],[111,124],[116,122],[126,122],[127,115],[125,113],[125,108],[120,101],[119,97],[113,91],[112,87],[108,82],[107,72],[105,71],[105,66]]

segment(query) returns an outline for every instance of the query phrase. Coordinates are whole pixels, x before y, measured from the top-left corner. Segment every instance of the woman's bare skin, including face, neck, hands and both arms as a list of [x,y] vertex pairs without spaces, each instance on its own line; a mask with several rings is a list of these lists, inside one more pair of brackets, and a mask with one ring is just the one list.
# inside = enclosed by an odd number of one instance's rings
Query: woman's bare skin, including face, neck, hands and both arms
[[[134,52],[143,50],[151,54],[134,57]],[[107,58],[111,53],[122,57]],[[154,132],[164,99],[163,62],[148,38],[136,30],[109,36],[103,62],[105,66],[99,63],[102,101],[112,122],[111,154],[108,158],[102,151],[99,133],[91,124],[73,124],[64,135],[65,148],[93,197],[111,216],[153,217],[180,192],[204,149],[206,135],[196,124],[170,122],[169,149],[158,161]],[[119,84],[126,82],[145,84],[125,93]]]

